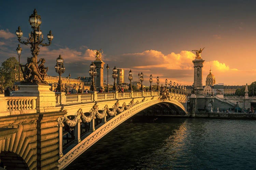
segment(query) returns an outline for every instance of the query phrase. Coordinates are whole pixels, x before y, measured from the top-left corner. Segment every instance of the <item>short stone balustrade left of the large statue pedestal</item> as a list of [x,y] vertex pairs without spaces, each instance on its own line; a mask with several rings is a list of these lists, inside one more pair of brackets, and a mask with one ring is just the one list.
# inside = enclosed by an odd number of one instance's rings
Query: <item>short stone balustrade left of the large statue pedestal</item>
[[37,97],[0,97],[0,116],[35,113]]

